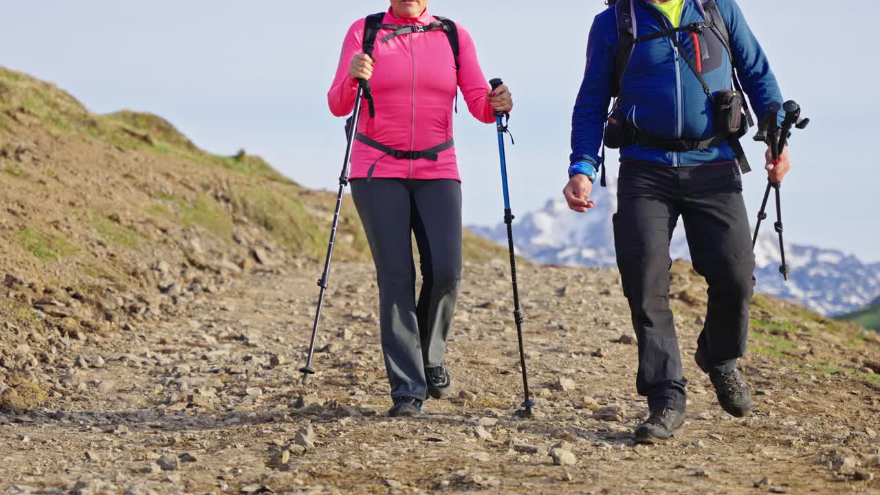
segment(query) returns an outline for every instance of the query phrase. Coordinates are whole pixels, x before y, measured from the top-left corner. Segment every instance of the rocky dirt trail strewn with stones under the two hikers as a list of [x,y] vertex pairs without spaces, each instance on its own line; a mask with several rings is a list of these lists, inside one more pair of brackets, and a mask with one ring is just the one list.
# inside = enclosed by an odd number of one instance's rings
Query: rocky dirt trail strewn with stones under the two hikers
[[[370,265],[334,267],[307,387],[297,368],[314,263],[250,272],[219,295],[180,299],[176,317],[75,343],[69,365],[47,369],[47,407],[0,414],[0,491],[880,493],[876,380],[799,358],[845,354],[863,369],[875,340],[851,350],[803,329],[774,337],[791,344],[777,355],[762,337],[743,362],[758,394],[745,419],[722,412],[686,358],[686,427],[635,446],[647,410],[617,273],[523,268],[539,402],[524,419],[508,270],[466,264],[447,361],[457,392],[423,417],[385,417]],[[674,307],[692,356],[700,303],[686,271]]]

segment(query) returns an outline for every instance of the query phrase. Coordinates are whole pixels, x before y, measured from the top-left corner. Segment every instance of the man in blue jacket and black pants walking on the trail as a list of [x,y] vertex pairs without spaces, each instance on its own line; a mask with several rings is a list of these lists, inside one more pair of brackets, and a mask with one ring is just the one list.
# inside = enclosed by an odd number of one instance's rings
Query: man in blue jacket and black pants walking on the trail
[[[714,15],[721,19],[710,28]],[[621,27],[631,28],[631,36],[626,29],[620,34]],[[622,66],[620,36],[634,41],[623,45],[630,51]],[[741,135],[719,135],[725,122],[718,121],[730,115],[720,115],[716,104],[724,94],[736,94],[730,91],[733,70],[758,117],[781,103],[766,55],[735,0],[620,0],[600,13],[590,30],[563,193],[574,211],[595,205],[590,192],[604,165],[598,151],[607,120],[606,144],[612,133],[622,135],[615,137],[620,175],[614,244],[639,343],[636,388],[648,397],[650,410],[635,431],[640,443],[666,440],[685,421],[686,380],[669,307],[669,247],[678,217],[685,223],[693,267],[709,286],[697,364],[724,410],[736,417],[752,410],[737,368],[754,290],[740,170],[747,162],[738,147]],[[618,99],[609,119],[613,96]],[[736,113],[734,120],[742,115]],[[788,151],[775,166],[768,151],[771,181],[782,181],[789,166]]]

